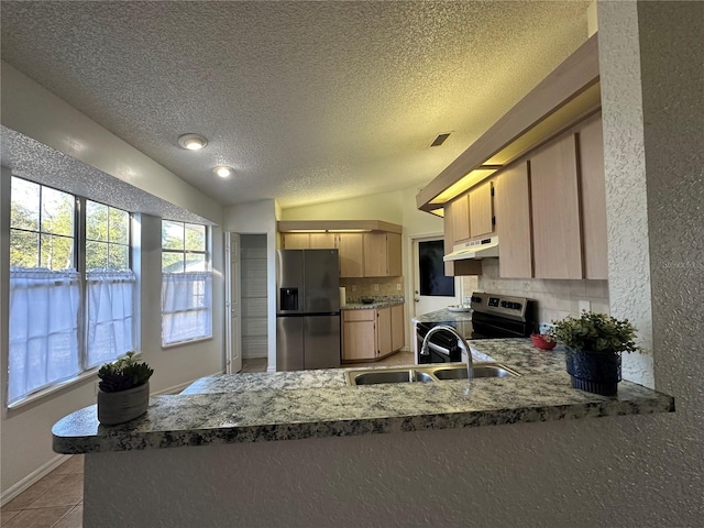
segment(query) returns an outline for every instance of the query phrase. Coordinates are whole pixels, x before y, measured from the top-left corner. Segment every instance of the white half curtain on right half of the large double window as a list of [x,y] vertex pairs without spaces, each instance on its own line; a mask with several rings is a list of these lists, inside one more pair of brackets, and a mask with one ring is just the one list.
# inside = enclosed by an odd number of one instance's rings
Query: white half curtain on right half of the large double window
[[91,270],[87,287],[87,369],[134,350],[134,289],[130,270]]

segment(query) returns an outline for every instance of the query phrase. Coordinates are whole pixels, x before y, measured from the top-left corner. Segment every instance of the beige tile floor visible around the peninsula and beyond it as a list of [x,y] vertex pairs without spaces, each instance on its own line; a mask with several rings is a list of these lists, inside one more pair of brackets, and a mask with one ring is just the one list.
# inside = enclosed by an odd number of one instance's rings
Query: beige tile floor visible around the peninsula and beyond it
[[[372,363],[342,366],[404,365],[413,352],[396,352]],[[241,372],[265,372],[266,358],[243,360]],[[84,455],[75,454],[62,465],[2,506],[2,528],[81,528],[84,513]]]

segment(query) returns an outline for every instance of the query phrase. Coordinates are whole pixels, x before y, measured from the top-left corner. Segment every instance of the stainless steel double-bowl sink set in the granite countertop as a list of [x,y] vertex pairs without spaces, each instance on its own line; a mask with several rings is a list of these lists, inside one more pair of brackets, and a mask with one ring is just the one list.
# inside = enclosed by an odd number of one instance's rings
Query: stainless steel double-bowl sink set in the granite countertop
[[[501,363],[475,363],[474,377],[520,376]],[[409,366],[402,369],[352,369],[346,372],[348,385],[376,385],[382,383],[431,383],[444,380],[466,380],[466,366]]]

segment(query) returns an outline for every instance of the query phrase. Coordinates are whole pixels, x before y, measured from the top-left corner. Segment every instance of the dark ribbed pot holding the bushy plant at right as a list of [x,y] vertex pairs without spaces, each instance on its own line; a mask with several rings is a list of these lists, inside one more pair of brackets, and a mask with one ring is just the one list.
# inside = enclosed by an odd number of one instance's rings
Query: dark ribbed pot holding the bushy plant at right
[[602,396],[615,396],[620,382],[620,354],[591,352],[565,346],[572,387]]

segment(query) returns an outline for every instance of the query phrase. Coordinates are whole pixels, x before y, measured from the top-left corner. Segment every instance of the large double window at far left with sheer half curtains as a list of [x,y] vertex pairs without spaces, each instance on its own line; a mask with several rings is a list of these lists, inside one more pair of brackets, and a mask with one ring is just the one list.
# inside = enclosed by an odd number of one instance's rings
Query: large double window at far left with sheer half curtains
[[135,287],[128,212],[11,186],[9,405],[132,350]]

